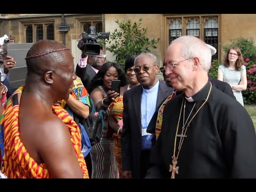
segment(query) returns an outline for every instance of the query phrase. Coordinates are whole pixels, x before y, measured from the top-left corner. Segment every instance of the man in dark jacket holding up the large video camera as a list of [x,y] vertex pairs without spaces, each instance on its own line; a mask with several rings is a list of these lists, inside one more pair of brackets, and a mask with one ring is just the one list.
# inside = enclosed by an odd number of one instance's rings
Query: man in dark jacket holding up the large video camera
[[82,55],[76,66],[76,75],[81,78],[86,90],[89,90],[92,78],[98,73],[102,65],[106,62],[106,53],[105,51],[100,50],[99,55],[86,55],[84,53],[84,43],[82,43],[81,50]]

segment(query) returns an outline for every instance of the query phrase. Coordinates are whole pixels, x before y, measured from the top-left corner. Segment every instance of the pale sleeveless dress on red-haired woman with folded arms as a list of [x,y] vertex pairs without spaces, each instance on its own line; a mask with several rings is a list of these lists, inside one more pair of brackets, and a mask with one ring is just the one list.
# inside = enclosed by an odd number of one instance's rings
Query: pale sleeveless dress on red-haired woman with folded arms
[[[225,67],[224,65],[220,65],[219,69],[222,71],[223,73],[223,82],[226,82],[228,84],[231,85],[239,85],[239,83],[241,82],[241,74],[243,73],[243,71],[245,70],[245,66],[242,66],[241,70],[231,70],[228,69],[227,67]],[[235,91],[233,92],[236,100],[241,103],[242,106],[244,106],[244,100],[243,100],[243,95],[241,91]]]

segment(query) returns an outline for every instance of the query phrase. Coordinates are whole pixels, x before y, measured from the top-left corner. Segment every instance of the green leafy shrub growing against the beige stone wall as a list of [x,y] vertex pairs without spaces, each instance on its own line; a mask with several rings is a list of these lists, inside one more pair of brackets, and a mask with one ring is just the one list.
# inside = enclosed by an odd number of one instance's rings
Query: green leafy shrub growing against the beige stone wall
[[150,47],[156,49],[157,39],[149,39],[146,37],[147,27],[141,27],[142,18],[139,22],[131,22],[127,20],[124,22],[115,21],[118,29],[110,33],[109,40],[104,39],[99,41],[105,44],[106,50],[111,52],[115,57],[115,62],[124,67],[125,59],[132,54],[140,54],[150,52]]

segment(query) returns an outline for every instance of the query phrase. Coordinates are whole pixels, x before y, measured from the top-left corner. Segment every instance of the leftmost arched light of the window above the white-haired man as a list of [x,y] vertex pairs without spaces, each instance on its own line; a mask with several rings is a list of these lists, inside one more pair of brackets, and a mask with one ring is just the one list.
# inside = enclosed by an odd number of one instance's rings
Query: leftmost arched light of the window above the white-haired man
[[170,20],[169,24],[169,44],[182,35],[181,20],[178,18]]

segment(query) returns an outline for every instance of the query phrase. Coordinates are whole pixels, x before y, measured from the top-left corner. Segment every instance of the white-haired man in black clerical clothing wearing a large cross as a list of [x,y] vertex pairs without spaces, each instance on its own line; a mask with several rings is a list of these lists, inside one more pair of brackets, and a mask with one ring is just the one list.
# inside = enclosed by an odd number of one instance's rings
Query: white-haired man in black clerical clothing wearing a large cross
[[146,178],[256,178],[252,120],[208,81],[210,49],[182,36],[167,48],[165,62],[165,75],[183,93],[165,105]]

